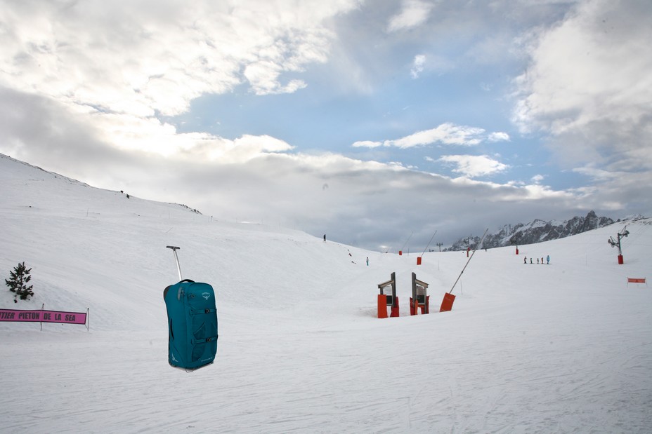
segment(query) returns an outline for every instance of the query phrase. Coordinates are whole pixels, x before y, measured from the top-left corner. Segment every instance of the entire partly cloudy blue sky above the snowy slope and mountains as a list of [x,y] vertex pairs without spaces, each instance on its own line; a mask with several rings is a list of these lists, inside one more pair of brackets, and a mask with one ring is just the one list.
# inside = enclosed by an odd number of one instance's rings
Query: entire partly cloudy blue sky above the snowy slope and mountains
[[393,252],[652,214],[649,1],[0,6],[0,153],[93,187]]

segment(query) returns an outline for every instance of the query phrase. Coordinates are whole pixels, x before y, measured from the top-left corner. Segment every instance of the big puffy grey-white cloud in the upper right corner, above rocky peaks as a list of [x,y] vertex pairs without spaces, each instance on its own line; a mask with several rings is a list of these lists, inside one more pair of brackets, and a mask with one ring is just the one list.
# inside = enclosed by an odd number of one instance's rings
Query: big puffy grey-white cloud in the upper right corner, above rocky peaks
[[644,139],[652,130],[651,15],[644,1],[580,1],[558,25],[533,32],[530,65],[514,81],[521,130],[549,134],[570,164],[610,164],[618,153],[619,164],[639,165],[641,149],[652,152]]

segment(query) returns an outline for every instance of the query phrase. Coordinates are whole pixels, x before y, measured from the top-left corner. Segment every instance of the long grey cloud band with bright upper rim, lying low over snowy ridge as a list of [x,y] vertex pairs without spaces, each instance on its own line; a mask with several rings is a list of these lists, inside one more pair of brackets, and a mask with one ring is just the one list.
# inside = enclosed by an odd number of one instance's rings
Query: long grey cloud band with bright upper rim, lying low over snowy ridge
[[[169,130],[169,138],[180,141],[167,146],[169,155],[136,146],[138,137],[116,148],[105,140],[105,126],[63,107],[48,97],[0,90],[0,151],[95,187],[185,203],[228,222],[328,233],[331,239],[372,250],[400,246],[412,230],[413,246],[423,238],[424,248],[435,229],[448,234],[443,243],[452,243],[459,233],[478,228],[469,219],[450,216],[476,206],[486,211],[483,225],[501,226],[528,219],[533,209],[549,215],[550,209],[578,205],[573,195],[544,188],[451,179],[325,152],[297,153],[266,136],[226,140]],[[157,136],[152,146],[157,141],[165,142]],[[473,164],[467,164],[467,171]],[[485,166],[491,163],[485,161]],[[499,167],[494,164],[493,170]],[[408,212],[415,204],[420,211]]]

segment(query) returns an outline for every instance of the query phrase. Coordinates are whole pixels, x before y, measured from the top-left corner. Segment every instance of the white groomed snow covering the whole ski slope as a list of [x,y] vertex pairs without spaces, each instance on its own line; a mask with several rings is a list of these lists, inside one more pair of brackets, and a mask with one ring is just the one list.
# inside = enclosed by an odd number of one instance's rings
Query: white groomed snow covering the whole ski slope
[[[627,284],[652,278],[651,219],[519,255],[478,250],[440,313],[466,252],[417,266],[421,252],[216,222],[6,156],[0,185],[0,276],[25,261],[35,294],[14,304],[3,285],[0,307],[90,308],[90,330],[0,322],[2,433],[652,429],[652,286]],[[607,240],[625,223],[619,265]],[[181,247],[183,278],[216,291],[216,362],[189,374],[167,362],[167,245]],[[400,317],[378,319],[393,271]],[[412,272],[429,283],[429,315],[410,316]]]

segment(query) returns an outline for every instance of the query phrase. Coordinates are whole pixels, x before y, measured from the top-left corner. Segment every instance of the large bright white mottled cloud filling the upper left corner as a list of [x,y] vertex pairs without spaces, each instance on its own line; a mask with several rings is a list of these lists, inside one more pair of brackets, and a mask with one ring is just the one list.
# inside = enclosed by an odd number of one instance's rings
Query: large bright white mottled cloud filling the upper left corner
[[[281,2],[282,3],[282,2]],[[205,93],[248,83],[257,95],[293,93],[285,79],[325,62],[334,34],[323,24],[356,6],[210,1],[5,5],[0,83],[104,112],[174,116]],[[141,19],[147,17],[146,19]]]

